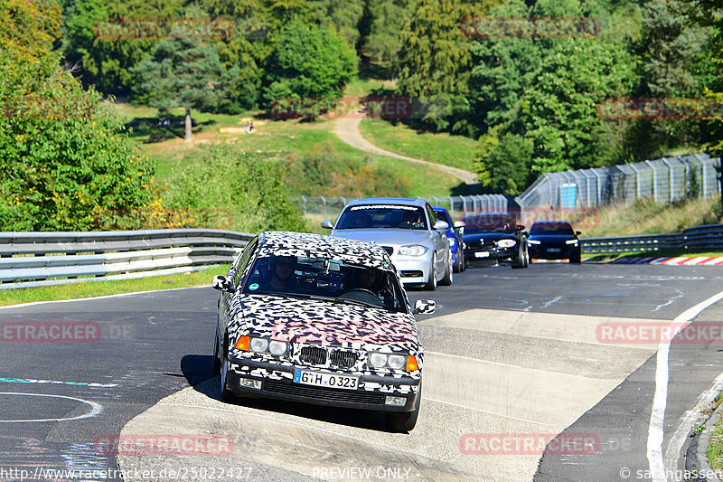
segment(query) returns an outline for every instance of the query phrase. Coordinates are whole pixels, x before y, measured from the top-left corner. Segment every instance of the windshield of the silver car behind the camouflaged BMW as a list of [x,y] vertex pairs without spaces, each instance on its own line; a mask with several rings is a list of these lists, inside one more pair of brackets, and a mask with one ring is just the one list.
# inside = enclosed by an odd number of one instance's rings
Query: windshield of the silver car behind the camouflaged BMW
[[336,223],[337,230],[365,228],[426,230],[427,219],[417,206],[370,204],[345,210]]

